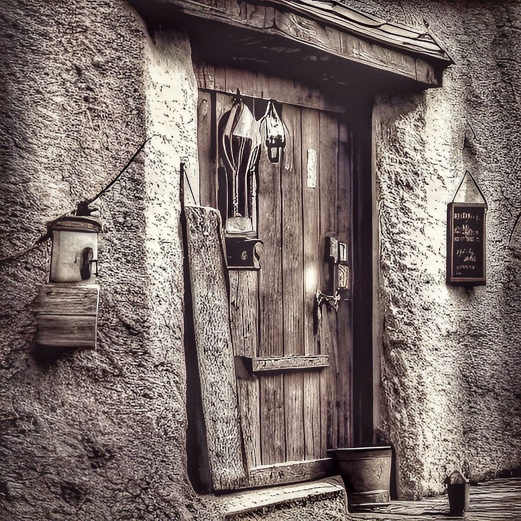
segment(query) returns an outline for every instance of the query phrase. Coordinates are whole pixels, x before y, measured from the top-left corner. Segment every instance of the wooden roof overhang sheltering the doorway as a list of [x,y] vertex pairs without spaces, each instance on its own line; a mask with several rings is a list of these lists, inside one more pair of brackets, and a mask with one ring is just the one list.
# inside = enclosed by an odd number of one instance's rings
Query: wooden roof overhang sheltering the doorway
[[337,94],[439,87],[452,62],[427,30],[332,0],[131,0],[148,23],[181,22],[195,59],[248,67]]

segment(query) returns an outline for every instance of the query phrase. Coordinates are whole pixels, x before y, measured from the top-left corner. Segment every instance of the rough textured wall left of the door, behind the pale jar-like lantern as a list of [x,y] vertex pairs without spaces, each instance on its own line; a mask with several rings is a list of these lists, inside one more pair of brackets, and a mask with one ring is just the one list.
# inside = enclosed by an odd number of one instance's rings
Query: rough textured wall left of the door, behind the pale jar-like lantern
[[97,351],[34,347],[48,243],[0,264],[0,518],[200,517],[185,470],[178,195],[179,163],[196,156],[188,38],[151,40],[118,0],[7,0],[0,23],[0,257],[151,137],[95,205]]

